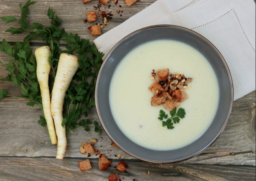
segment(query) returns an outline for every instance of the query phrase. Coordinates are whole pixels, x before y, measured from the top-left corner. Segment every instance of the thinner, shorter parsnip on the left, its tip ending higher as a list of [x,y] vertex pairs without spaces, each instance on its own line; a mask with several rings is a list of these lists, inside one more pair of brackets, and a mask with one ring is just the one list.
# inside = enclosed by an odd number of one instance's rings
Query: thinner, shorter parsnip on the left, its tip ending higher
[[57,136],[55,133],[55,127],[52,119],[50,91],[48,83],[49,73],[51,70],[51,65],[49,62],[49,56],[51,56],[51,51],[48,46],[40,47],[36,49],[35,56],[37,63],[36,76],[41,90],[43,112],[47,123],[47,129],[52,144],[57,144]]

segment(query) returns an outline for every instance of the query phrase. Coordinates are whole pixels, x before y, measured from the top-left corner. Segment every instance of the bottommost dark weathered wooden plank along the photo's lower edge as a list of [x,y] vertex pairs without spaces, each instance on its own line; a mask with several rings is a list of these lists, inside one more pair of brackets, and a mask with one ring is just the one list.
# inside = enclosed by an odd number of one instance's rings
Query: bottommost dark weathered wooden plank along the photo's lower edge
[[[252,181],[255,167],[150,164],[136,160],[126,161],[126,173],[114,170],[117,161],[106,171],[98,170],[97,159],[90,160],[92,169],[81,172],[78,162],[83,159],[55,160],[53,158],[0,157],[1,181],[104,181],[118,173],[121,181]],[[10,166],[11,165],[11,166]],[[147,175],[147,170],[150,175]],[[242,176],[242,178],[241,178]]]

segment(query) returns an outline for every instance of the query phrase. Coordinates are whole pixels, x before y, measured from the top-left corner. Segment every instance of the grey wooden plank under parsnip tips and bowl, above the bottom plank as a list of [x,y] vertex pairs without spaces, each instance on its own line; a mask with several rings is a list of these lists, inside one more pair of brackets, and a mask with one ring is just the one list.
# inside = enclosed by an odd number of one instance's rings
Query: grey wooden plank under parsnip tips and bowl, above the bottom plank
[[[186,163],[255,165],[255,92],[235,102],[226,129],[220,138],[203,154],[187,160]],[[27,107],[23,99],[5,98],[0,101],[0,155],[54,157],[56,146],[50,143],[47,131],[37,124],[40,108]],[[241,115],[241,113],[243,113]],[[95,109],[90,113],[92,121],[98,121]],[[17,120],[18,118],[18,120]],[[82,155],[79,145],[83,141],[97,138],[95,148],[111,158],[122,153],[122,158],[133,159],[121,150],[110,146],[110,139],[104,131],[98,135],[77,128],[69,133],[66,157],[87,157]],[[92,158],[97,156],[92,155]]]

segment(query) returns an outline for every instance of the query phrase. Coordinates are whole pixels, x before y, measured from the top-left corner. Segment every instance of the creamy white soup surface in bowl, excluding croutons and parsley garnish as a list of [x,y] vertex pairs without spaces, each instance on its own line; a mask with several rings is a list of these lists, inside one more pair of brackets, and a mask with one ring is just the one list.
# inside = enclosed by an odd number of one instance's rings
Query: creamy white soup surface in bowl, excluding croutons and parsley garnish
[[[158,120],[163,104],[151,106],[152,70],[169,68],[193,78],[184,90],[188,99],[178,108],[186,116],[167,129]],[[134,143],[152,150],[174,150],[196,141],[211,125],[219,100],[216,74],[207,59],[183,42],[156,40],[134,48],[117,66],[111,80],[109,101],[118,127]]]

